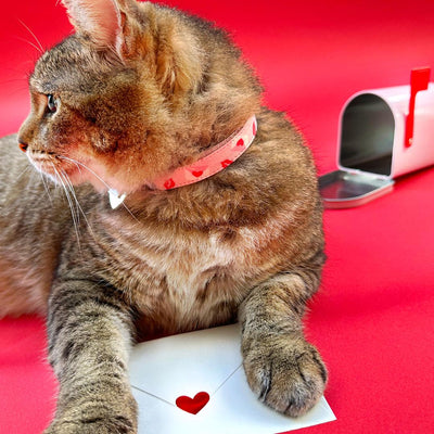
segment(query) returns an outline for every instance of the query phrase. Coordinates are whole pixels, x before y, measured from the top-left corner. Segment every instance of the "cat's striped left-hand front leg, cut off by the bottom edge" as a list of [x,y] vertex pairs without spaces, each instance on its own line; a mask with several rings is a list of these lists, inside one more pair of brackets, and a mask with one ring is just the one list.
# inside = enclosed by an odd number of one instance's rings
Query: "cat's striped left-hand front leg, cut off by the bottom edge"
[[131,318],[114,290],[86,281],[56,283],[49,301],[49,358],[60,382],[46,434],[137,433],[127,365]]

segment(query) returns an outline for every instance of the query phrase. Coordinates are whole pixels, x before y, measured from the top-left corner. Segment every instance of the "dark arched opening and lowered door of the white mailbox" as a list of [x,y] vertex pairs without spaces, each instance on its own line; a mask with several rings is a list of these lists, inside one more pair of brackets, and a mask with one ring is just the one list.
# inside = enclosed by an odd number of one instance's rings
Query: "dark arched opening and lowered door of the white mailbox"
[[326,207],[362,205],[392,190],[394,138],[395,118],[382,98],[361,93],[349,101],[341,118],[341,170],[320,177]]

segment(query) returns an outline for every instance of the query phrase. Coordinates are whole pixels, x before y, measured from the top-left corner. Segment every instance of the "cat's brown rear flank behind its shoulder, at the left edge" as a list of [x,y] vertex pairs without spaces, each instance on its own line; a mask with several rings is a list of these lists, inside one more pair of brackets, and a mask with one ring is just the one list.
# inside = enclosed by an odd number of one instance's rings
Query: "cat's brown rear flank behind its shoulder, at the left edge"
[[44,312],[67,207],[20,151],[16,135],[0,139],[0,318]]

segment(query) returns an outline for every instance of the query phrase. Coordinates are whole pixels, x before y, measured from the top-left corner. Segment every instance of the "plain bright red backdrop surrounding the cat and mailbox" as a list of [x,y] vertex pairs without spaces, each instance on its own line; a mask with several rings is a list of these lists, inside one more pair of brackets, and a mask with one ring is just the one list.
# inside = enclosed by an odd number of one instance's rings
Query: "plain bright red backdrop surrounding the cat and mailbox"
[[[356,91],[409,82],[434,66],[434,2],[167,0],[230,29],[267,103],[305,132],[319,171],[334,168],[339,113]],[[41,4],[42,3],[42,4]],[[55,1],[2,4],[0,133],[28,110],[37,50],[71,31]],[[434,143],[433,143],[434,145]],[[328,210],[329,261],[307,332],[330,370],[337,421],[306,433],[434,432],[434,169],[399,180],[369,205]],[[0,433],[40,433],[54,408],[43,322],[0,321]],[[244,433],[240,433],[244,434]]]

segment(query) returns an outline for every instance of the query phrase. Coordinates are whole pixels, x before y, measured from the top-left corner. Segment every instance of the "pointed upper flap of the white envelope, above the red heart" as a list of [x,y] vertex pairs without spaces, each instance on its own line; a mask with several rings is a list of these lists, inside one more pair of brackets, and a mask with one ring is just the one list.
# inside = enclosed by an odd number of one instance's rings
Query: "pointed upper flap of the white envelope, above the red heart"
[[130,382],[175,405],[182,395],[213,395],[241,363],[240,328],[225,326],[137,345]]

